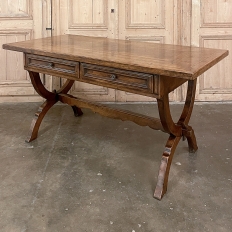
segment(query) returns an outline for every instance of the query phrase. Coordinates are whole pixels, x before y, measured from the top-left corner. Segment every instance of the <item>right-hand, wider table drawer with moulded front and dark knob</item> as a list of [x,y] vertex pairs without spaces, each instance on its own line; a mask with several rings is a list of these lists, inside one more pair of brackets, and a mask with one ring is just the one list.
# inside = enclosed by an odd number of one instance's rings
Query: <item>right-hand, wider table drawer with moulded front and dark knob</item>
[[154,93],[152,74],[81,63],[80,80],[128,92]]

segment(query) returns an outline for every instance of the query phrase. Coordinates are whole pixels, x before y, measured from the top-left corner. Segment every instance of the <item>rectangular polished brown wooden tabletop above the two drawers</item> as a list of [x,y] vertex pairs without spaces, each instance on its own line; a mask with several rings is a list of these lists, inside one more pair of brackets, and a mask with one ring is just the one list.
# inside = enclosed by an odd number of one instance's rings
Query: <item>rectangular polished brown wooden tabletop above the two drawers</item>
[[60,35],[4,44],[4,49],[194,80],[227,50],[102,37]]

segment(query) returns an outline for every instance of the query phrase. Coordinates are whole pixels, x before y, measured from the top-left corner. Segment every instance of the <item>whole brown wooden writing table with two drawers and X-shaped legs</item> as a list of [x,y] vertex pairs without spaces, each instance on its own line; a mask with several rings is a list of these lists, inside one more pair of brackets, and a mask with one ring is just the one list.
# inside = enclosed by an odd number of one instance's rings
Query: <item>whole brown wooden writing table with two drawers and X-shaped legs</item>
[[[187,138],[190,152],[197,150],[194,130],[188,125],[197,77],[228,55],[226,50],[75,35],[4,44],[3,48],[24,53],[24,68],[32,85],[46,99],[32,121],[28,142],[36,139],[43,117],[57,101],[72,106],[75,116],[83,114],[81,108],[89,108],[103,116],[168,133],[154,193],[159,200],[167,191],[172,157],[181,137]],[[59,90],[50,92],[39,73],[67,80]],[[160,119],[73,97],[67,93],[75,81],[156,98]],[[178,122],[174,123],[168,94],[185,82],[188,82],[186,101]]]

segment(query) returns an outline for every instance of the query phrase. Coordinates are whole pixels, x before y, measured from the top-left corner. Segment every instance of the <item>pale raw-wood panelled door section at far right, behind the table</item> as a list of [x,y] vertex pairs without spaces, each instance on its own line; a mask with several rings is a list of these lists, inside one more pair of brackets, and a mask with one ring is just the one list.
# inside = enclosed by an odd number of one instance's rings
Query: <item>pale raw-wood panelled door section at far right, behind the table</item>
[[232,0],[203,1],[192,4],[191,45],[229,50],[229,56],[205,72],[198,80],[196,99],[232,99]]

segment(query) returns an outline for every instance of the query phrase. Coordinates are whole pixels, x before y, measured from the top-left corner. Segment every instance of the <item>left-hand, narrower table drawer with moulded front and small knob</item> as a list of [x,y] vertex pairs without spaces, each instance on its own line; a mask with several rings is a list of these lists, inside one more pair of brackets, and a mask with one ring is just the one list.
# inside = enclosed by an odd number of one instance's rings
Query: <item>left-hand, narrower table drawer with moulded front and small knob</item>
[[26,54],[25,69],[63,77],[79,77],[79,63],[46,56]]

